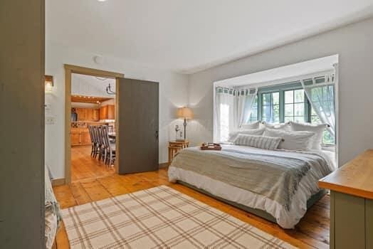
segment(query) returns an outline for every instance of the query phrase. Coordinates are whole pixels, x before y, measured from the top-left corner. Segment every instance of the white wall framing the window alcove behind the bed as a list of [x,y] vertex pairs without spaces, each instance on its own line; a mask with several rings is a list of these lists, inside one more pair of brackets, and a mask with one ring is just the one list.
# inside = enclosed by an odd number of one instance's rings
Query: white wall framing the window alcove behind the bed
[[373,18],[226,63],[189,77],[192,144],[213,139],[213,83],[339,54],[339,164],[373,147]]

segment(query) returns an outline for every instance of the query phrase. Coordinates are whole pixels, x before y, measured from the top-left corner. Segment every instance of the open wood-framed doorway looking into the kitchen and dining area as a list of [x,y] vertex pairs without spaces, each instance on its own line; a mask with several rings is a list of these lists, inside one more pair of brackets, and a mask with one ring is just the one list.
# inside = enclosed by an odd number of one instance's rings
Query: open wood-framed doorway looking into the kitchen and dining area
[[[76,179],[118,173],[118,156],[112,160],[110,155],[104,159],[97,149],[93,153],[95,139],[92,135],[93,129],[100,129],[99,133],[95,133],[96,136],[103,135],[105,131],[110,132],[110,140],[115,139],[110,142],[114,142],[113,147],[119,147],[120,139],[115,137],[119,120],[115,117],[119,110],[116,95],[120,78],[124,78],[124,74],[65,65],[65,184]],[[73,82],[80,84],[73,85]],[[95,89],[95,83],[101,84],[100,89],[106,92],[105,95]],[[107,129],[104,131],[105,127]]]

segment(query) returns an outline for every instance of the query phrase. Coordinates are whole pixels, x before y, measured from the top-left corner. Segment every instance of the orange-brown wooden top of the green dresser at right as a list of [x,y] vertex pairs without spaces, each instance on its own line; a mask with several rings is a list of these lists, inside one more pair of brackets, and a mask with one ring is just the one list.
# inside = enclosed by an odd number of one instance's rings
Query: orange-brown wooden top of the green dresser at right
[[373,199],[373,149],[320,179],[322,189]]

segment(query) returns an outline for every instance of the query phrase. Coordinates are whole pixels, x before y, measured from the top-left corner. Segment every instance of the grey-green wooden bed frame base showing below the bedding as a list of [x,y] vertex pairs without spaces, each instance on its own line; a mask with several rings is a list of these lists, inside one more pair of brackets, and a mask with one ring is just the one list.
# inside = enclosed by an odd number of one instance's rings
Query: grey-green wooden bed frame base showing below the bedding
[[[193,186],[191,184],[187,184],[186,182],[184,181],[177,181],[179,184],[182,184],[184,186],[187,186],[191,189],[194,189],[196,191],[199,191],[201,192],[202,194],[206,194],[207,196],[211,196],[213,198],[216,198],[218,199],[219,201],[223,201],[224,203],[228,203],[230,204],[231,206],[235,206],[236,208],[240,208],[242,209],[243,211],[247,211],[248,213],[253,213],[254,215],[256,216],[259,216],[261,218],[264,218],[266,219],[267,221],[271,221],[273,223],[277,223],[276,219],[270,214],[270,213],[267,213],[266,211],[263,211],[261,209],[257,209],[257,208],[250,208],[248,206],[245,206],[245,205],[242,205],[240,203],[236,203],[234,201],[228,201],[224,198],[221,198],[219,196],[214,196],[213,194],[210,194],[209,192],[203,190],[203,189],[199,189],[197,188],[196,186]],[[313,204],[315,204],[317,201],[319,201],[322,197],[325,196],[325,194],[327,194],[327,191],[325,189],[322,189],[320,191],[318,191],[316,194],[312,195],[308,201],[307,201],[307,209],[310,208]]]

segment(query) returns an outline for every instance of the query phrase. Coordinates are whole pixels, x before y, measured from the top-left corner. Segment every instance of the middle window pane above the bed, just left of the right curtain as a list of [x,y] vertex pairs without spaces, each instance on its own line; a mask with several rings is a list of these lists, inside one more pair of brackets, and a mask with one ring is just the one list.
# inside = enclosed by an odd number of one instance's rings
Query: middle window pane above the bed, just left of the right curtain
[[284,122],[307,122],[305,99],[303,89],[285,91]]

